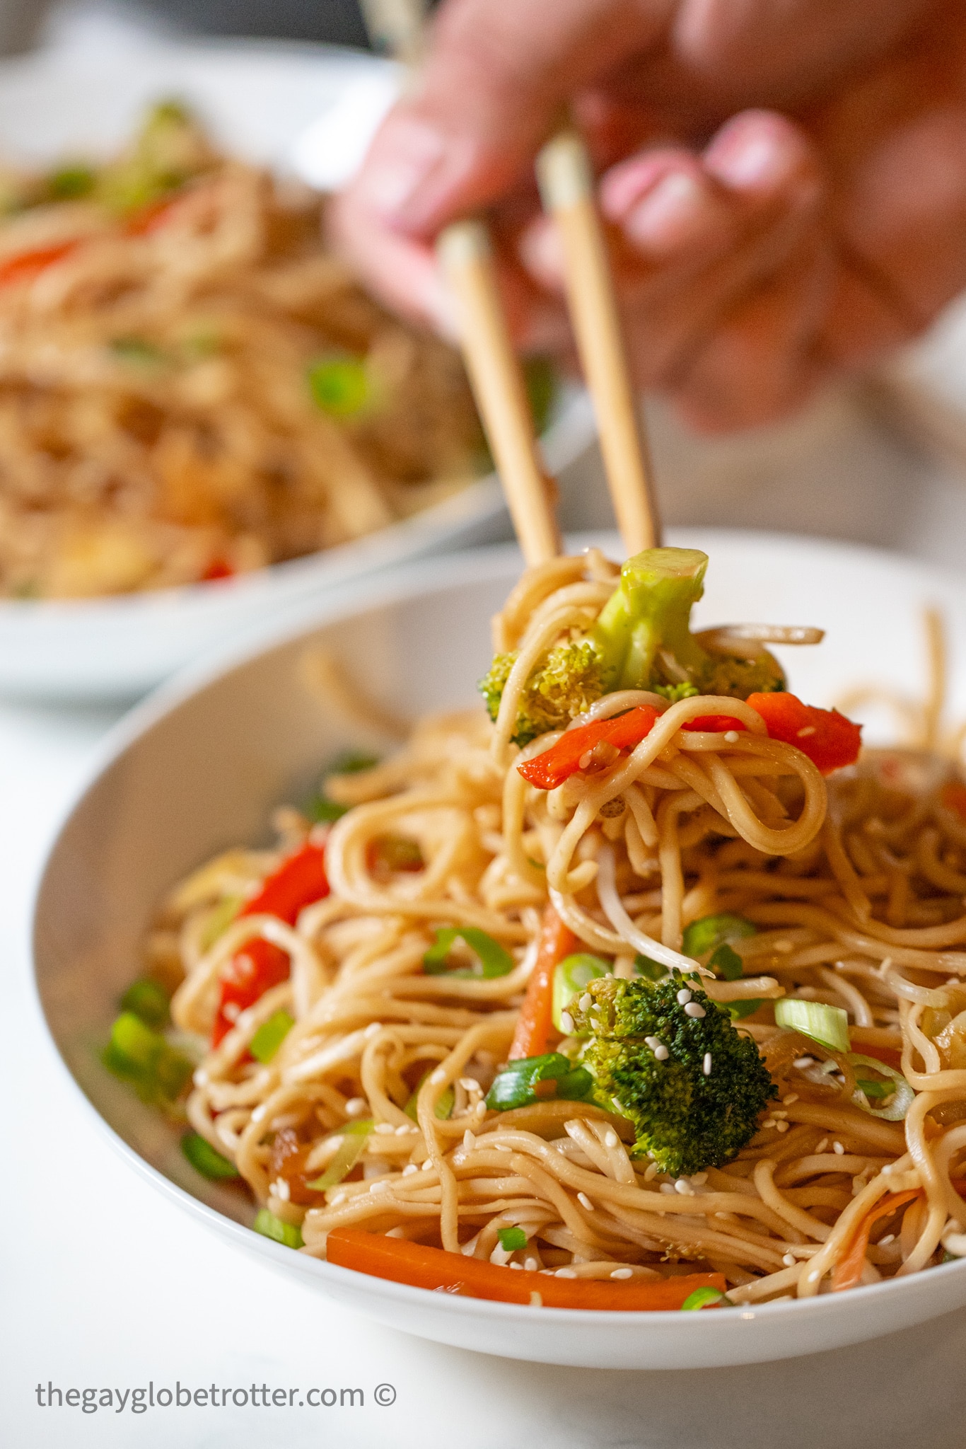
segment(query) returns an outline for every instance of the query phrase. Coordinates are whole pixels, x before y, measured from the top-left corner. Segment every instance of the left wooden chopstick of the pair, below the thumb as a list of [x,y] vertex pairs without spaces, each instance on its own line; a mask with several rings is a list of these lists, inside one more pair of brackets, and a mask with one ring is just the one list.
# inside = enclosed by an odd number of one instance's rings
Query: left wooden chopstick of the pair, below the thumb
[[476,407],[503,480],[527,565],[560,552],[553,481],[543,471],[520,362],[503,309],[482,222],[453,222],[436,242],[461,317],[461,343]]

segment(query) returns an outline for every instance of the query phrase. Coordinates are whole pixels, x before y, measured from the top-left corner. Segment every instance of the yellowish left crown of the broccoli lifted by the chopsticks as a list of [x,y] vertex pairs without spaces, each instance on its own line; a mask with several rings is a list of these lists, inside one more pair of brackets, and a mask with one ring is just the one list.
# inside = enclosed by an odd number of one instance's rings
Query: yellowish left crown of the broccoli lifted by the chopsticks
[[[492,720],[500,713],[500,700],[516,658],[516,653],[498,653],[490,674],[479,681],[479,693]],[[550,649],[527,680],[513,739],[517,745],[527,745],[547,730],[566,729],[602,693],[602,671],[594,642],[581,636],[565,639]]]

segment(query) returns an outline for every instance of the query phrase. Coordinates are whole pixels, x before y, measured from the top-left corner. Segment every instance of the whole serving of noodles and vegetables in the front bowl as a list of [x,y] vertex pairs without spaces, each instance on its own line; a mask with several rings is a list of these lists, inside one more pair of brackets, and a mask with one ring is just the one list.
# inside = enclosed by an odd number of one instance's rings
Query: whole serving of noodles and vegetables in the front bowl
[[168,895],[104,1061],[259,1232],[534,1308],[966,1255],[966,785],[788,691],[820,630],[692,633],[705,565],[529,569],[490,717]]

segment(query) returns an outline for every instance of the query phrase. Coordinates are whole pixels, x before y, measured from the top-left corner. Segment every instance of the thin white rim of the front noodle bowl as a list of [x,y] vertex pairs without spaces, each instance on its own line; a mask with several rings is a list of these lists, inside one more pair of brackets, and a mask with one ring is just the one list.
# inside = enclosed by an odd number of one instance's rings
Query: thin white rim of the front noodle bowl
[[[704,539],[711,548],[715,543],[727,546],[727,543],[740,545],[756,542],[763,546],[768,546],[769,543],[784,546],[791,545],[804,552],[818,549],[828,554],[837,554],[839,556],[859,555],[859,558],[868,564],[891,564],[892,567],[898,565],[905,567],[910,571],[928,574],[931,578],[936,578],[937,575],[944,577],[952,587],[963,591],[963,582],[952,569],[936,567],[928,562],[910,558],[904,554],[878,549],[868,545],[853,545],[843,540],[828,540],[808,535],[786,535],[772,530],[757,532],[749,529],[686,527],[673,529],[671,532],[675,539],[681,539],[685,543],[694,543],[698,539]],[[618,543],[617,535],[598,532],[575,535],[566,539],[566,546],[569,549],[579,549],[591,545],[613,549],[616,543]],[[255,664],[261,655],[295,642],[301,635],[311,629],[337,625],[342,619],[364,614],[369,610],[391,607],[392,604],[404,603],[406,600],[414,597],[432,597],[433,594],[446,593],[455,587],[466,585],[468,582],[492,580],[494,575],[500,577],[508,565],[520,565],[520,551],[516,543],[490,545],[487,548],[468,551],[463,555],[452,554],[440,558],[414,559],[401,565],[398,569],[394,569],[391,574],[375,575],[368,580],[356,580],[353,581],[350,590],[343,591],[339,597],[316,598],[310,603],[303,603],[295,609],[272,616],[272,619],[264,626],[249,633],[242,643],[235,642],[227,648],[222,646],[209,653],[206,658],[178,671],[174,678],[159,685],[142,703],[136,704],[127,714],[125,714],[110,730],[107,730],[100,745],[94,749],[88,759],[87,769],[83,772],[80,784],[74,787],[74,791],[64,806],[51,835],[43,865],[36,877],[30,903],[30,987],[35,1004],[43,1022],[43,1029],[46,1030],[51,1045],[54,1046],[56,1064],[72,1084],[75,1094],[83,1100],[84,1107],[93,1116],[100,1132],[106,1135],[114,1151],[119,1152],[120,1156],[132,1168],[135,1168],[142,1178],[149,1181],[172,1203],[177,1203],[196,1219],[201,1220],[211,1232],[230,1237],[239,1249],[256,1252],[275,1266],[282,1268],[287,1274],[293,1274],[293,1271],[297,1274],[307,1272],[310,1278],[316,1278],[323,1287],[326,1281],[330,1281],[333,1284],[342,1284],[358,1290],[359,1279],[369,1279],[371,1284],[379,1285],[378,1288],[369,1287],[368,1291],[371,1294],[388,1294],[390,1300],[394,1300],[401,1306],[408,1304],[417,1308],[420,1306],[427,1306],[429,1298],[439,1300],[440,1297],[445,1297],[450,1304],[446,1310],[448,1313],[456,1313],[465,1317],[484,1314],[484,1317],[492,1321],[507,1321],[523,1326],[526,1323],[533,1323],[533,1319],[527,1317],[527,1314],[533,1313],[533,1308],[529,1304],[500,1303],[487,1298],[472,1298],[469,1295],[433,1294],[432,1290],[427,1288],[416,1288],[408,1284],[394,1282],[392,1279],[379,1278],[377,1275],[359,1274],[355,1269],[340,1268],[335,1264],[310,1258],[304,1253],[298,1255],[301,1262],[298,1269],[295,1269],[293,1262],[293,1249],[284,1248],[282,1245],[255,1233],[251,1227],[246,1227],[236,1219],[217,1211],[217,1208],[210,1207],[207,1203],[194,1197],[194,1194],[187,1191],[187,1188],[180,1187],[159,1168],[155,1168],[151,1162],[148,1162],[106,1120],[106,1117],[101,1116],[80,1081],[71,1072],[48,1020],[38,971],[39,933],[42,929],[42,898],[62,836],[90,791],[93,791],[100,782],[101,777],[114,764],[117,764],[130,748],[145,738],[155,727],[155,724],[161,723],[169,714],[174,714],[182,704],[194,698],[197,694],[216,687],[222,680],[227,678],[233,672]],[[310,1264],[311,1266],[306,1268],[306,1264]],[[727,1314],[726,1321],[742,1321],[743,1316],[744,1319],[749,1316],[757,1319],[762,1313],[778,1317],[788,1317],[789,1314],[797,1317],[804,1317],[807,1314],[824,1316],[826,1313],[836,1311],[833,1307],[834,1303],[865,1303],[870,1294],[872,1301],[882,1301],[886,1293],[889,1294],[889,1300],[892,1303],[901,1297],[915,1298],[924,1291],[928,1291],[927,1284],[933,1281],[931,1275],[937,1269],[959,1271],[962,1275],[962,1272],[966,1271],[966,1258],[956,1262],[938,1264],[936,1268],[930,1269],[928,1274],[910,1274],[904,1278],[891,1278],[883,1282],[852,1288],[843,1295],[821,1293],[811,1298],[782,1298],[775,1303],[740,1306],[733,1314]],[[949,1272],[944,1274],[944,1278],[949,1278]],[[366,1290],[364,1288],[362,1291]],[[634,1324],[644,1327],[662,1323],[669,1327],[671,1323],[682,1321],[676,1313],[669,1310],[540,1307],[539,1311],[540,1323],[556,1323],[560,1326],[587,1323],[592,1327],[594,1324],[614,1326],[617,1323],[624,1323],[629,1327],[633,1327]],[[938,1311],[944,1310],[940,1308]],[[685,1321],[691,1321],[692,1319],[705,1320],[705,1327],[688,1329],[686,1332],[704,1333],[705,1337],[715,1333],[717,1330],[714,1329],[714,1324],[721,1321],[714,1313],[695,1313]],[[708,1319],[710,1324],[707,1321]],[[679,1335],[682,1329],[678,1327],[671,1332]]]

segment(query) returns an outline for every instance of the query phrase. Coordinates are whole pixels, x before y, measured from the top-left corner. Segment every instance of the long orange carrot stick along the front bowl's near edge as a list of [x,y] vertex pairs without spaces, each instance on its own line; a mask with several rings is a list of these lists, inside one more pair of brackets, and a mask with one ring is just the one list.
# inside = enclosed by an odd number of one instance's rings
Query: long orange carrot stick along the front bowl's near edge
[[[556,1278],[529,1272],[526,1268],[498,1268],[479,1258],[426,1248],[404,1237],[364,1233],[359,1227],[335,1227],[329,1233],[326,1255],[339,1268],[407,1282],[413,1288],[452,1293],[463,1298],[494,1298],[498,1303],[533,1303],[545,1308],[618,1308],[640,1313],[679,1308],[695,1288],[726,1290],[726,1281],[717,1272],[647,1278],[643,1282]],[[540,1295],[539,1304],[532,1297],[534,1293]]]

